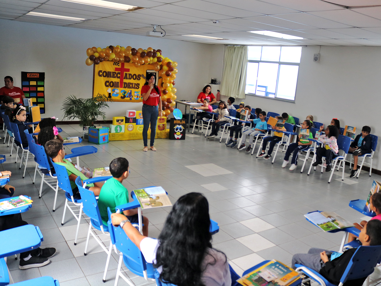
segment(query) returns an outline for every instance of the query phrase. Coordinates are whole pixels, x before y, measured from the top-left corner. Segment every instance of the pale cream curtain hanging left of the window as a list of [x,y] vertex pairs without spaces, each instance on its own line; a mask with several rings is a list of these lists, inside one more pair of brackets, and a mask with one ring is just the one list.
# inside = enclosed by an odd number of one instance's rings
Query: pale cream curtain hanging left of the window
[[247,46],[225,46],[221,95],[245,98]]

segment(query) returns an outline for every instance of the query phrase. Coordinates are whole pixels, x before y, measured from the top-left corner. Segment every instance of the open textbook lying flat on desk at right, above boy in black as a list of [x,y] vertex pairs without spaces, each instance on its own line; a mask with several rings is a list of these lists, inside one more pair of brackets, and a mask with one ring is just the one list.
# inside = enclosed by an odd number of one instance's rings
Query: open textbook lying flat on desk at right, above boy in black
[[314,225],[320,227],[324,231],[353,227],[352,223],[343,219],[335,212],[319,212],[316,210],[314,212],[309,212],[304,216]]

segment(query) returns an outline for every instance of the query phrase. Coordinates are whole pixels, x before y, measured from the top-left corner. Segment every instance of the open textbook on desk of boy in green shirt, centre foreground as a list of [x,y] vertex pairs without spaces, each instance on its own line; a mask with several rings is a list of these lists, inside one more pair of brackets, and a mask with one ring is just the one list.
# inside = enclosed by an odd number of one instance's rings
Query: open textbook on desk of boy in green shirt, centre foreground
[[160,186],[134,190],[134,193],[142,209],[172,206],[168,195]]

